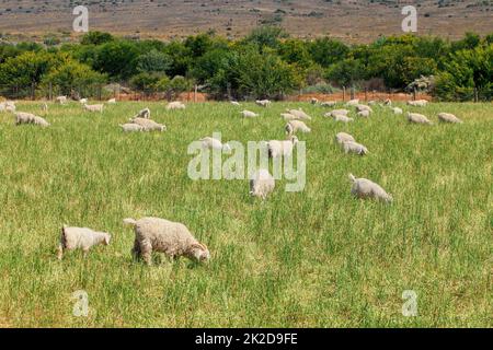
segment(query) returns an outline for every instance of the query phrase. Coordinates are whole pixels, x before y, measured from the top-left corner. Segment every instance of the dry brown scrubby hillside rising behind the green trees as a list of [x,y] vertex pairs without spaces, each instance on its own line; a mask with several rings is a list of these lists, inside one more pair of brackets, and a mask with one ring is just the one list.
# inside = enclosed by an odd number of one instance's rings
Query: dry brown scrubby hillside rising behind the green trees
[[331,34],[369,42],[400,34],[405,4],[417,3],[420,34],[460,37],[466,31],[493,32],[493,1],[332,1],[332,0],[111,0],[0,1],[2,34],[70,33],[72,9],[89,4],[90,28],[141,37],[176,37],[208,30],[242,36],[259,24],[278,24],[291,35]]

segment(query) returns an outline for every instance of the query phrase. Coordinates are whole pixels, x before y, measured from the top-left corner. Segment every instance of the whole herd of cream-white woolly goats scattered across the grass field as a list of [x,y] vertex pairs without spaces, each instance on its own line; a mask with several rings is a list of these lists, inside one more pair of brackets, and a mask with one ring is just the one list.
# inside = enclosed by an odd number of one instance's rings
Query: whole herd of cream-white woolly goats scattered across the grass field
[[[56,98],[56,103],[64,105],[67,104],[66,96],[59,96]],[[103,113],[104,104],[88,105],[88,100],[82,98],[79,101],[82,107],[90,113]],[[232,105],[240,107],[239,102],[230,102]],[[263,100],[256,101],[256,105],[267,108],[271,105],[271,101]],[[323,102],[312,98],[312,104],[318,104],[323,107],[335,108],[337,103]],[[427,101],[410,101],[408,105],[415,107],[424,107],[427,105]],[[107,104],[116,104],[116,100],[112,98],[107,101]],[[355,113],[360,118],[368,118],[374,113],[372,106],[379,105],[383,108],[391,108],[393,114],[402,115],[403,110],[400,107],[392,107],[390,100],[383,102],[368,102],[367,104],[359,103],[358,100],[352,100],[345,104],[345,108],[332,109],[324,114],[324,117],[333,118],[339,122],[353,122],[354,118],[348,117],[355,108]],[[186,106],[181,102],[172,102],[167,105],[168,110],[172,109],[185,109]],[[48,110],[48,105],[43,103],[42,109]],[[50,124],[43,117],[36,116],[31,113],[18,112],[15,102],[7,101],[0,103],[0,112],[12,113],[15,116],[15,125],[36,125],[41,127],[49,127]],[[251,110],[242,110],[241,116],[243,118],[256,118],[260,115]],[[287,122],[285,130],[287,133],[287,140],[271,140],[267,142],[270,158],[286,158],[290,156],[294,148],[298,143],[297,132],[311,132],[311,129],[307,126],[306,121],[312,118],[302,110],[287,109],[282,114],[282,117]],[[423,114],[408,113],[406,118],[409,122],[432,125],[433,122]],[[455,115],[449,113],[438,114],[438,120],[442,122],[461,124],[462,121]],[[149,108],[140,110],[134,116],[129,122],[121,125],[125,132],[144,132],[144,131],[165,131],[164,125],[158,124],[151,119],[151,112]],[[228,145],[222,144],[221,141],[214,138],[204,138],[200,140],[204,149],[225,149]],[[340,132],[335,136],[336,143],[341,144],[345,153],[355,153],[358,155],[365,155],[368,150],[365,145],[356,142],[355,138],[346,132]],[[387,203],[392,202],[392,196],[389,195],[380,185],[366,179],[356,178],[349,174],[349,179],[353,184],[352,194],[362,199],[375,199],[381,200]],[[266,199],[270,194],[274,191],[275,179],[267,170],[259,170],[250,180],[250,194],[254,197]],[[135,245],[133,248],[133,256],[136,258],[142,258],[148,265],[151,264],[152,252],[164,253],[170,258],[179,258],[181,256],[187,257],[194,261],[203,262],[210,259],[210,253],[207,246],[198,242],[190,230],[182,223],[168,221],[158,218],[144,218],[140,220],[125,219],[124,223],[134,228],[135,231]],[[91,247],[104,244],[108,245],[111,242],[111,235],[105,232],[98,232],[87,228],[70,228],[64,225],[61,229],[60,242],[58,246],[58,258],[62,259],[66,250],[82,249],[84,256],[89,253]]]

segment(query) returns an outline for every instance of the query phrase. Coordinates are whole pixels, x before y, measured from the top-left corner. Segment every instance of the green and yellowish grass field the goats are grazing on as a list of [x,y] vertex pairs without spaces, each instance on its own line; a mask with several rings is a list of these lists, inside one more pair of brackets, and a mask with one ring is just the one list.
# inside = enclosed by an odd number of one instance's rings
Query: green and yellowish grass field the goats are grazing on
[[[262,202],[248,180],[188,179],[192,141],[284,139],[279,113],[301,105],[313,116],[299,136],[305,191],[280,180]],[[168,132],[124,135],[118,124],[146,106]],[[0,114],[0,327],[493,326],[492,104],[403,106],[434,126],[380,107],[345,126],[301,103],[242,106],[257,119],[226,103],[49,107],[47,129]],[[18,110],[42,115],[39,103]],[[438,124],[439,112],[465,124]],[[343,154],[339,131],[369,155]],[[381,184],[393,205],[353,198],[348,173]],[[122,220],[145,215],[185,223],[210,262],[134,261]],[[64,223],[111,232],[112,244],[58,261]],[[88,317],[72,314],[79,290]],[[417,294],[416,317],[402,315],[404,290]]]

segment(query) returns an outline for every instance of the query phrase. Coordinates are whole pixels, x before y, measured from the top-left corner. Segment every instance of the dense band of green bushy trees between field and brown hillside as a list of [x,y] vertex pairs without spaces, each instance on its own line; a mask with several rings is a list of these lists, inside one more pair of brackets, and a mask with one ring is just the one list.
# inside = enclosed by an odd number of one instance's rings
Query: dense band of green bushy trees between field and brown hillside
[[49,84],[69,95],[78,86],[117,82],[170,100],[193,85],[218,100],[276,100],[346,86],[491,101],[492,65],[493,34],[467,33],[456,42],[402,35],[347,45],[331,37],[294,38],[277,26],[234,40],[213,32],[171,42],[90,32],[78,43],[0,44],[0,86],[9,95]]

